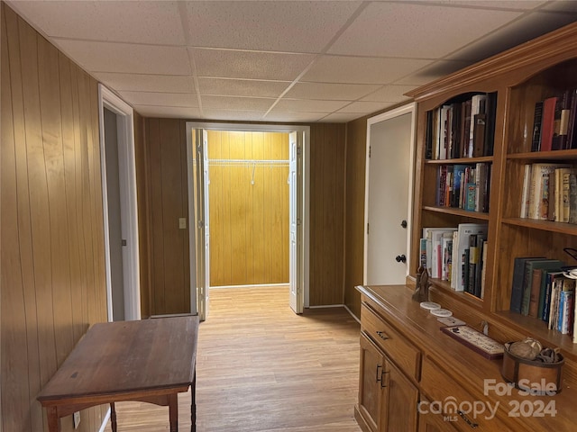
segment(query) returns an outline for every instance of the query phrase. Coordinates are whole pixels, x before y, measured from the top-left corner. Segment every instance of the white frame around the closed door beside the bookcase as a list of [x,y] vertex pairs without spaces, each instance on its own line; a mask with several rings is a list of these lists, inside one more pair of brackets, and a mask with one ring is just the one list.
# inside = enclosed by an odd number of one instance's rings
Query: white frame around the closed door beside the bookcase
[[364,180],[364,250],[362,257],[362,284],[367,284],[367,264],[369,254],[369,234],[367,233],[367,225],[369,224],[369,167],[370,165],[370,149],[371,149],[371,126],[381,121],[387,121],[399,117],[401,115],[411,113],[411,135],[410,135],[410,150],[409,150],[409,172],[408,172],[408,226],[407,226],[407,275],[410,268],[411,257],[411,215],[413,214],[413,183],[415,175],[415,126],[417,117],[417,103],[408,103],[400,106],[394,110],[383,112],[375,115],[367,120],[367,142],[366,142],[366,162],[365,162],[365,180]]

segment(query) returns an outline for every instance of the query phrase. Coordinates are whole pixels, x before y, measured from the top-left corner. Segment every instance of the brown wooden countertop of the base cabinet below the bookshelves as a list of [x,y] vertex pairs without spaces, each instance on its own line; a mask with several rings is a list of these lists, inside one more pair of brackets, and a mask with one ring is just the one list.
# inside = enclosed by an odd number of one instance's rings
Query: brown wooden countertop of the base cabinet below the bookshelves
[[[574,384],[563,380],[562,392],[554,396],[522,395],[517,389],[512,389],[510,396],[499,396],[492,390],[484,392],[485,380],[505,383],[500,374],[501,359],[489,360],[444,334],[440,330],[444,325],[429,311],[422,309],[418,302],[411,300],[413,289],[406,285],[358,286],[357,289],[362,293],[362,302],[380,312],[381,317],[398,333],[421,350],[427,361],[438,365],[444,374],[462,385],[472,396],[479,398],[479,401],[490,401],[492,404],[499,402],[499,409],[508,418],[511,427],[517,430],[523,427],[527,430],[575,430],[577,392]],[[467,316],[460,311],[453,311],[453,316],[465,321],[470,327],[479,329],[480,323],[468,321]],[[423,389],[421,391],[426,394]],[[523,419],[508,417],[514,401],[522,402],[527,399],[533,403],[541,400],[545,404],[553,400],[556,415]]]

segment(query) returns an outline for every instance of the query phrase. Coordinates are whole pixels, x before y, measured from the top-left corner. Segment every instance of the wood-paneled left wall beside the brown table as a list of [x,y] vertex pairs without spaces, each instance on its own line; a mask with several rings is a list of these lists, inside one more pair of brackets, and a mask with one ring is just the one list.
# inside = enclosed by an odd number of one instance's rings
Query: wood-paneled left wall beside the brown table
[[[106,320],[96,81],[2,7],[2,429],[45,428],[42,385]],[[82,411],[94,432],[106,407]],[[72,430],[71,418],[62,430]]]

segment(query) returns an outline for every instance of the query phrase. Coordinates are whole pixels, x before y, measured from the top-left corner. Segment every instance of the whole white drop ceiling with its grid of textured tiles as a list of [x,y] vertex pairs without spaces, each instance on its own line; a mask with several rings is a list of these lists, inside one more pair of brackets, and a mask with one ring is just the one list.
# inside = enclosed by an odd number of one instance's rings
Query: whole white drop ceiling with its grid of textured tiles
[[145,116],[352,121],[577,20],[577,1],[8,1]]

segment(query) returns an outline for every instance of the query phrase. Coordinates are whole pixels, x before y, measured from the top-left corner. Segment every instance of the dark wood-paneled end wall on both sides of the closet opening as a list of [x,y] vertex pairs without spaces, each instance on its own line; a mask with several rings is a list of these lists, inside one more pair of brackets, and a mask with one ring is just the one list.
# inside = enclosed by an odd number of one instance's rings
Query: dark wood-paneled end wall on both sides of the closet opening
[[[309,302],[343,304],[345,126],[311,124],[310,130]],[[188,214],[185,134],[186,121],[144,119],[150,248],[141,266],[150,266],[154,314],[188,311],[188,229],[178,229],[178,218]],[[137,182],[141,187],[142,179]]]

